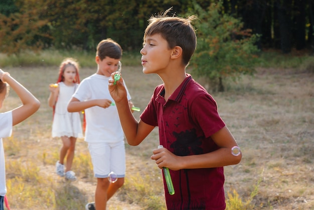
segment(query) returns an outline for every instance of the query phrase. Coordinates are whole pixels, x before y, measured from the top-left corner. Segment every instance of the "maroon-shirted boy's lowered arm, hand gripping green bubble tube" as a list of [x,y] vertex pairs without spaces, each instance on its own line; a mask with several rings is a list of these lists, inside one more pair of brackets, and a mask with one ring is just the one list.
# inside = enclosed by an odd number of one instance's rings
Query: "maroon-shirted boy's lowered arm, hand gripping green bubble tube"
[[168,167],[172,170],[216,168],[238,164],[241,161],[242,153],[238,156],[231,153],[232,147],[238,145],[226,126],[211,137],[220,147],[214,152],[202,155],[176,156],[166,148],[161,148],[153,150],[151,159],[156,161],[159,168]]

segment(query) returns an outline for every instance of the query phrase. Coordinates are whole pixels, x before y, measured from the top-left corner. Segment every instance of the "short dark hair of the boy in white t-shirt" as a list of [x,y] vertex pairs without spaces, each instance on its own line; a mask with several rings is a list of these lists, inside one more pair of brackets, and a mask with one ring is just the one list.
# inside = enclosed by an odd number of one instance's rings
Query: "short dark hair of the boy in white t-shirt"
[[113,59],[120,59],[122,57],[122,48],[112,39],[104,39],[97,45],[96,56],[98,56],[100,60],[105,59],[106,56]]

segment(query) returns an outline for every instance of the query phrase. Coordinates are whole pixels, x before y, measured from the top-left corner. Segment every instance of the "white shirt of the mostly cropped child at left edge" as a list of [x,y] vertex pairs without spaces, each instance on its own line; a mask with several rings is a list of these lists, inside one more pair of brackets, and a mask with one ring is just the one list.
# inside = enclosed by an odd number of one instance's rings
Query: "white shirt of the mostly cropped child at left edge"
[[12,111],[0,113],[0,195],[5,196],[6,187],[6,164],[5,151],[2,138],[12,135]]

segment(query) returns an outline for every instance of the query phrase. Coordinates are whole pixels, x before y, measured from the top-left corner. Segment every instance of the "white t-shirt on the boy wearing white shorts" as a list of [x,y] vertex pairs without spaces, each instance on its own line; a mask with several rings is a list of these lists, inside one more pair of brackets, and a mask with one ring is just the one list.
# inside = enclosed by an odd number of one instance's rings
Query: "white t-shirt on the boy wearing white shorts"
[[[73,97],[80,101],[93,99],[112,99],[108,89],[109,77],[93,74],[82,80]],[[127,99],[131,96],[127,90]],[[116,106],[106,109],[94,106],[85,110],[86,132],[85,141],[88,143],[119,142],[124,140],[124,133],[120,124]]]

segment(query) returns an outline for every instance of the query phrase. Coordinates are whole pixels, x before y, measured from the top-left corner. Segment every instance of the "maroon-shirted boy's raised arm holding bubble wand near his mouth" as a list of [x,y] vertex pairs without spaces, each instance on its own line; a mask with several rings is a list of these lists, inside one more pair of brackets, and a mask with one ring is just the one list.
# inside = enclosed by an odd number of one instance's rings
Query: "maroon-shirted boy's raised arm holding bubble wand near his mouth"
[[[115,73],[112,73],[112,78]],[[126,89],[123,85],[122,77],[116,84],[113,84],[113,82],[114,79],[109,79],[108,88],[111,97],[115,101],[125,138],[129,145],[136,146],[146,138],[154,126],[150,126],[141,120],[137,122],[134,118],[127,101]]]

